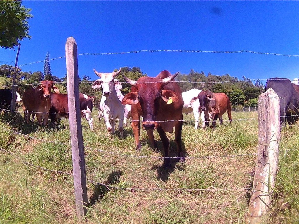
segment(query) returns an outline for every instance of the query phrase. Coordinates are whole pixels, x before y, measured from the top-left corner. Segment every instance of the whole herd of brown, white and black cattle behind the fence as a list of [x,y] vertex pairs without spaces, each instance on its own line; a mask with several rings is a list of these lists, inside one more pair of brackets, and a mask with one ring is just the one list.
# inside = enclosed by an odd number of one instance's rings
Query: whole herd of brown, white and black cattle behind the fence
[[[212,120],[213,127],[217,119],[222,124],[222,116],[225,112],[228,113],[228,119],[232,122],[231,103],[225,93],[212,93],[209,90],[198,89],[182,93],[175,81],[178,73],[171,75],[164,70],[156,77],[141,77],[137,81],[123,75],[126,82],[132,86],[131,92],[123,96],[120,91],[122,85],[118,79],[115,79],[120,72],[121,69],[112,73],[100,73],[94,69],[94,73],[100,79],[94,81],[92,88],[103,88],[102,99],[98,106],[99,117],[104,119],[107,131],[112,134],[115,132],[115,121],[118,119],[121,138],[123,138],[123,122],[126,124],[126,118],[131,117],[136,148],[140,150],[140,118],[142,116],[142,128],[147,131],[153,148],[158,148],[153,131],[157,130],[161,137],[166,157],[164,158],[165,167],[170,165],[168,154],[170,142],[166,132],[172,133],[173,128],[175,128],[177,157],[180,161],[184,161],[181,141],[183,113],[193,112],[195,129],[198,128],[199,113],[202,128],[208,126],[210,120]],[[48,118],[53,124],[56,124],[60,117],[68,118],[67,94],[59,93],[59,89],[54,84],[53,81],[44,80],[38,87],[26,90],[23,99],[17,93],[17,102],[23,101],[24,119],[28,124],[33,123],[35,116],[38,123],[43,123],[44,126],[47,125]],[[281,124],[288,122],[292,125],[299,117],[298,87],[299,85],[292,84],[289,79],[282,78],[271,78],[266,83],[266,90],[272,88],[280,97]],[[51,93],[51,90],[55,93]],[[9,105],[10,101],[11,90],[0,90],[0,103],[6,102]],[[92,109],[92,96],[80,93],[81,116],[89,122],[91,130],[93,130]],[[290,117],[291,115],[293,117]]]

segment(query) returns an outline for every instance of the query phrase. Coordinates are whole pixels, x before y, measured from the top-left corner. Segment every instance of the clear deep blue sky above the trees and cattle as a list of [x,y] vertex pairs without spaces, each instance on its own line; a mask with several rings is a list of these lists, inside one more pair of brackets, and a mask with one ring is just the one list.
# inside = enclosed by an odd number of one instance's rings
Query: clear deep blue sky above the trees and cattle
[[[299,54],[299,1],[23,1],[31,8],[32,39],[21,42],[19,65],[65,55],[76,39],[78,53],[135,50],[252,50]],[[13,65],[16,50],[0,49]],[[78,56],[79,76],[95,67],[111,72],[138,66],[149,76],[190,69],[239,79],[298,78],[299,58],[251,53],[132,53]],[[50,61],[53,75],[66,73],[65,58]],[[43,62],[22,67],[43,71]]]

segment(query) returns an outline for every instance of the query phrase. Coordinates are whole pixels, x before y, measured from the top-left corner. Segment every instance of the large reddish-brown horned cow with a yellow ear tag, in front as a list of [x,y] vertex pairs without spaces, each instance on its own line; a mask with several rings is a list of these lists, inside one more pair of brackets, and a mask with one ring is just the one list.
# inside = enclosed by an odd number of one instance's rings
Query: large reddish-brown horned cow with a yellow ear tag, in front
[[[153,130],[157,130],[162,141],[165,157],[169,157],[170,143],[165,132],[172,133],[174,127],[177,156],[184,157],[181,141],[184,101],[179,85],[173,81],[177,75],[178,73],[171,75],[167,70],[164,70],[155,78],[141,77],[137,81],[123,75],[123,78],[132,85],[132,88],[131,92],[123,97],[121,103],[131,105],[132,119],[135,120],[132,122],[132,129],[137,150],[141,149],[139,120],[142,116],[142,128],[147,131],[154,148],[158,148],[153,135]],[[174,121],[163,122],[167,120]],[[184,158],[179,160],[183,162]],[[169,165],[170,158],[164,158],[164,168]]]

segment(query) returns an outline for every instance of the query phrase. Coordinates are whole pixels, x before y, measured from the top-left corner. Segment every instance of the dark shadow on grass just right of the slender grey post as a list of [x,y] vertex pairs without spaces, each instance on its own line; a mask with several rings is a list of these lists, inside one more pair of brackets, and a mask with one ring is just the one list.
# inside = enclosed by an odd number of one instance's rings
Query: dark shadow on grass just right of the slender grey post
[[[120,170],[113,171],[109,174],[107,180],[104,183],[96,183],[94,185],[93,193],[89,198],[89,206],[93,206],[97,201],[101,200],[111,190],[110,185],[117,184],[120,181],[122,172]],[[108,185],[108,186],[107,186]]]

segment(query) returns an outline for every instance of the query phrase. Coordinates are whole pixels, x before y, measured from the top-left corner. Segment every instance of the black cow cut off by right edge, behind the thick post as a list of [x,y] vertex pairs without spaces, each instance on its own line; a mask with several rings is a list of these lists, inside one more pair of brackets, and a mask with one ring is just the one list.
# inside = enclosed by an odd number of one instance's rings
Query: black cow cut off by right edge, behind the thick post
[[[266,90],[272,88],[280,99],[280,125],[295,123],[299,118],[299,93],[289,79],[270,78]],[[292,117],[290,117],[292,116]]]

